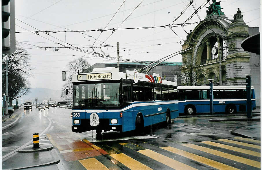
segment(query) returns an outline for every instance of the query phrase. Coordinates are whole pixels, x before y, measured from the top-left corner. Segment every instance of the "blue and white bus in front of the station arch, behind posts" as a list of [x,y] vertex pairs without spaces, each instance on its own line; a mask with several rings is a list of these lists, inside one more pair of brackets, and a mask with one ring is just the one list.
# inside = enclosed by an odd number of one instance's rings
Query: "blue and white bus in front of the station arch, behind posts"
[[[246,112],[246,86],[213,86],[213,112]],[[210,113],[209,86],[178,86],[179,114]],[[251,86],[251,109],[256,109]]]

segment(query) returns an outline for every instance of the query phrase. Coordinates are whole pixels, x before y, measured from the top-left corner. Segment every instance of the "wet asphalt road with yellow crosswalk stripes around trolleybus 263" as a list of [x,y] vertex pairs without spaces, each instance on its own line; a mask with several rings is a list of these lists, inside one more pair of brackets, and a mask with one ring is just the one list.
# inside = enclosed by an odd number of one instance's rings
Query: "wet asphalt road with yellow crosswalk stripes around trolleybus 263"
[[[70,114],[71,110],[64,108],[26,110],[16,125],[2,132],[5,149],[2,154],[11,153],[32,140],[33,133],[39,133],[43,134],[40,143],[51,143],[60,157],[56,167],[51,165],[44,169],[89,169],[92,166],[99,169],[260,167],[260,146],[257,148],[260,138],[256,139],[259,141],[256,143],[230,134],[236,128],[260,124],[257,121],[210,122],[210,117],[177,118],[168,126],[147,127],[140,135],[109,131],[97,138],[95,131],[71,132]],[[233,142],[228,143],[227,140]],[[224,145],[233,147],[233,150],[223,148]],[[11,156],[15,158],[15,154]]]

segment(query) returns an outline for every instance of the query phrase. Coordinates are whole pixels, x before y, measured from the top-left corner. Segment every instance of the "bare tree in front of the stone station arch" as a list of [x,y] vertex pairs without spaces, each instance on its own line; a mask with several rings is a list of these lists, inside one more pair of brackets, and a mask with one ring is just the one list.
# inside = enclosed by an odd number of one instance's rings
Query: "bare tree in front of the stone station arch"
[[187,86],[196,86],[202,74],[200,67],[196,64],[195,58],[192,55],[183,58],[181,69],[182,84]]

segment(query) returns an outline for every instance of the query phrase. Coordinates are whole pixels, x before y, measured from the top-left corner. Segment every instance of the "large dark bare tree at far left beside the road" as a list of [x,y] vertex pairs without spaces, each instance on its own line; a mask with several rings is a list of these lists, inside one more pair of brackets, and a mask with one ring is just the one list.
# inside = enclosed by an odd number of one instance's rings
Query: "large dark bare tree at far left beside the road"
[[[2,64],[6,63],[8,57],[8,97],[9,105],[12,101],[22,97],[29,92],[30,84],[28,76],[31,74],[32,67],[28,63],[30,56],[25,49],[16,45],[16,50],[12,54],[2,54]],[[5,93],[5,71],[2,71],[2,95]]]

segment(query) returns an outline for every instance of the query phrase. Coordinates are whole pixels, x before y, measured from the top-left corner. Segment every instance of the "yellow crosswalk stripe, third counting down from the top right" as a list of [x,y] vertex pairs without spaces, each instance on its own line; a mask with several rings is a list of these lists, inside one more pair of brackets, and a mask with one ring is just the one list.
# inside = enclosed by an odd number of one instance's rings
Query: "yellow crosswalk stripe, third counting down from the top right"
[[248,154],[248,155],[253,155],[253,156],[260,157],[260,152],[250,151],[248,149],[242,149],[242,148],[229,146],[229,145],[224,145],[224,144],[221,144],[221,143],[210,142],[210,141],[203,141],[201,143],[204,143],[204,144],[207,144],[207,145],[216,146],[216,147],[221,147],[221,148],[224,148],[224,149],[229,149],[229,150],[232,150],[232,151],[241,152],[241,153]]

